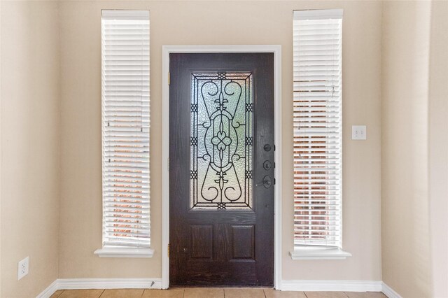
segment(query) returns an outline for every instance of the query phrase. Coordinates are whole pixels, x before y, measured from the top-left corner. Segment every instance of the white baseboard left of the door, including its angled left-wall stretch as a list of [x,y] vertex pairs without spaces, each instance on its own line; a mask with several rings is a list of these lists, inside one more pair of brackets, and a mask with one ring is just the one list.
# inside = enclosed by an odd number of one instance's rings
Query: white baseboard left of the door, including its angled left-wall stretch
[[53,281],[36,298],[48,298],[57,290],[161,288],[161,278],[62,278]]

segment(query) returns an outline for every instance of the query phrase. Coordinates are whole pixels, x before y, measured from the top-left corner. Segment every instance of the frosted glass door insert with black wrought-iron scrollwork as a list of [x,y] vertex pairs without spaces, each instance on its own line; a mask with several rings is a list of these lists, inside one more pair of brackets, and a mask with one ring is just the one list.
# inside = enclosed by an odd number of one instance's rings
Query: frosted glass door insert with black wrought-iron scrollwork
[[251,73],[193,73],[190,208],[252,208]]

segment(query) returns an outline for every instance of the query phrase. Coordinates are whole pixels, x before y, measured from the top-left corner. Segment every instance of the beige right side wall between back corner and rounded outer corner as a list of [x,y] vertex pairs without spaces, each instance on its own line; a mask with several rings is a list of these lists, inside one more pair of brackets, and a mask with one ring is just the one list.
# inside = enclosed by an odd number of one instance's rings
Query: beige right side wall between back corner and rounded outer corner
[[430,1],[383,3],[382,274],[383,281],[402,297],[432,295],[428,210],[430,8]]

